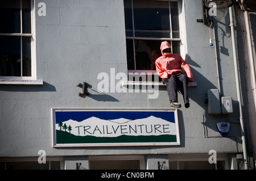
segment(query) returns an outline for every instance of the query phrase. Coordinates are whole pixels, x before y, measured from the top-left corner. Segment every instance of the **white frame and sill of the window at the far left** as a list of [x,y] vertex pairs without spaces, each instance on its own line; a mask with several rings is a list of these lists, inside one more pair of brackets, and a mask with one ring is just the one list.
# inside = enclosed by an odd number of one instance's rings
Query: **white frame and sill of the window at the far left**
[[21,33],[0,33],[0,36],[31,37],[31,77],[0,76],[0,84],[43,85],[43,80],[36,79],[35,0],[31,0],[31,33],[22,33],[22,11],[20,19]]

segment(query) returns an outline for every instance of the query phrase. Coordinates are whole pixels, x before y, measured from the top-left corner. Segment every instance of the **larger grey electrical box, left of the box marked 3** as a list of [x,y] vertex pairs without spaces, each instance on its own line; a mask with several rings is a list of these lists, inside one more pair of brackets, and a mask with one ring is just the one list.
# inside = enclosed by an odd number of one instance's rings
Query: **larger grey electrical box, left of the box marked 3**
[[220,114],[221,104],[220,104],[220,92],[218,89],[208,89],[208,113],[210,114]]

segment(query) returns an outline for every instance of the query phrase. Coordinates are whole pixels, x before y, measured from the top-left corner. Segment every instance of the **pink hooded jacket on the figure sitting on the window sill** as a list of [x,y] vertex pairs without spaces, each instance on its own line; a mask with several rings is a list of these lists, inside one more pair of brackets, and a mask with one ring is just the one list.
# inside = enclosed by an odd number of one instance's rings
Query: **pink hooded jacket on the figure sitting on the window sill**
[[167,48],[171,48],[171,45],[167,41],[163,41],[160,47],[162,56],[155,61],[156,72],[159,77],[170,78],[171,74],[182,73],[180,69],[180,65],[182,65],[182,68],[189,78],[189,82],[193,82],[193,75],[189,65],[179,54],[163,53],[163,50]]

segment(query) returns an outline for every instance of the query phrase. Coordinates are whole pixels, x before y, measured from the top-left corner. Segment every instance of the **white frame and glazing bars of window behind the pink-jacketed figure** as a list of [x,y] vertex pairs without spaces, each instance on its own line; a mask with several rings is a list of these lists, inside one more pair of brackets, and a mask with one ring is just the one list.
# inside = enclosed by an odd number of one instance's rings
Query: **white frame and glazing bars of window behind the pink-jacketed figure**
[[[186,42],[186,32],[183,31],[185,30],[185,15],[184,15],[184,7],[182,7],[183,3],[181,3],[182,0],[155,0],[155,1],[175,1],[177,2],[177,6],[178,6],[178,12],[179,12],[179,27],[180,27],[180,38],[172,38],[172,33],[171,33],[171,38],[148,38],[148,37],[136,37],[136,36],[126,36],[126,40],[130,39],[130,40],[162,40],[162,41],[179,41],[180,42],[180,55],[181,57],[185,57],[185,54],[187,53],[187,42]],[[170,7],[169,7],[170,8]],[[133,5],[132,5],[132,9],[133,9]],[[171,16],[171,14],[170,14]],[[134,20],[133,20],[134,23]],[[170,24],[171,24],[171,18],[170,18]],[[172,26],[172,24],[171,24]],[[134,29],[134,26],[133,26]],[[134,31],[134,30],[133,30]],[[133,42],[134,42],[133,41]],[[160,49],[160,47],[159,47]],[[135,50],[134,50],[135,52]],[[154,75],[154,73],[156,73],[156,70],[127,70],[127,73],[152,73]]]

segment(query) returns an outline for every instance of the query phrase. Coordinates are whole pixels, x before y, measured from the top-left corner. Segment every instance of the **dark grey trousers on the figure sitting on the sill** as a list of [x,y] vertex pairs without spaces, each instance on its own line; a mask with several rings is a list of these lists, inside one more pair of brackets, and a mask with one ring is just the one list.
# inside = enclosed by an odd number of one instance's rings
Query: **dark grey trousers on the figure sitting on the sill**
[[188,77],[185,74],[171,75],[170,78],[164,79],[167,86],[168,96],[171,102],[177,101],[177,90],[181,92],[184,104],[189,103],[188,99]]

